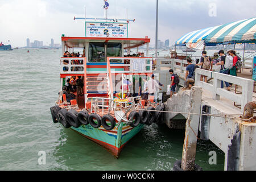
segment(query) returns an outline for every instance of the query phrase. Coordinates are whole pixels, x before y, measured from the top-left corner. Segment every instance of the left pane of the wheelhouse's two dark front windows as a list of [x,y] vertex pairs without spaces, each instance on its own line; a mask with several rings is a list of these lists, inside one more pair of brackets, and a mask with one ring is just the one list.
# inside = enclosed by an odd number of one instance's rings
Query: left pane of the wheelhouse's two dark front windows
[[89,62],[105,62],[104,43],[89,43]]

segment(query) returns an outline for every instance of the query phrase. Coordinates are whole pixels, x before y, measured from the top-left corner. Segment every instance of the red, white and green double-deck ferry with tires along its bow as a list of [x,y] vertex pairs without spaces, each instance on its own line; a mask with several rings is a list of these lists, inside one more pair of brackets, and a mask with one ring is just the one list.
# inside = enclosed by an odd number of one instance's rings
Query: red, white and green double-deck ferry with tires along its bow
[[[123,24],[102,23],[101,26],[119,30]],[[100,144],[118,158],[123,147],[144,125],[158,121],[161,112],[155,110],[164,109],[163,104],[155,104],[154,96],[142,100],[138,94],[131,95],[133,88],[151,78],[152,57],[124,57],[123,53],[131,48],[137,48],[138,52],[138,47],[146,44],[148,56],[150,39],[89,34],[89,37],[61,36],[63,55],[76,48],[81,48],[83,54],[60,58],[60,93],[56,105],[50,108],[51,115],[54,123],[59,122]],[[67,92],[67,86],[70,88],[69,84],[75,80],[79,86],[69,100],[72,93]]]

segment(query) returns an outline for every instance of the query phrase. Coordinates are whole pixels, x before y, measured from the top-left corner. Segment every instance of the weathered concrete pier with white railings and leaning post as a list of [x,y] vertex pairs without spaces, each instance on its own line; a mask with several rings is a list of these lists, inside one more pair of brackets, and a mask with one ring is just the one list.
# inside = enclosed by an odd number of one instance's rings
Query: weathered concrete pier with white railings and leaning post
[[[166,67],[163,69],[164,71],[161,71],[162,68],[157,70],[159,73],[167,74],[168,69],[174,69],[174,72],[180,76],[180,86],[184,86],[185,62],[185,60],[171,59],[170,64],[162,64]],[[176,63],[180,63],[180,65]],[[212,78],[211,82],[200,81],[200,75],[206,75],[208,79]],[[167,75],[167,78],[163,78],[160,74],[159,80],[167,85],[169,77]],[[164,82],[164,80],[167,81]],[[221,80],[237,84],[238,90],[241,90],[241,92],[234,92],[234,86],[231,92],[221,89]],[[168,127],[186,130],[181,168],[184,170],[192,169],[196,156],[196,135],[197,131],[201,131],[201,133],[207,135],[206,138],[209,138],[225,153],[224,170],[256,170],[256,160],[254,160],[256,154],[256,123],[242,121],[239,115],[233,115],[236,118],[226,118],[228,114],[243,115],[243,107],[246,103],[256,101],[254,99],[256,97],[253,97],[255,95],[253,93],[253,80],[196,69],[195,85],[192,90],[180,89],[172,98],[164,102],[166,110],[182,113],[203,113],[203,108],[208,107],[210,108],[210,114],[224,114],[224,117],[210,116],[208,122],[202,122],[203,117],[199,115],[164,113],[164,122]],[[194,95],[195,90],[201,90],[201,95],[199,93]],[[193,100],[196,100],[196,102],[193,102]],[[192,103],[195,104],[193,107],[191,107]],[[234,104],[241,106],[239,108]],[[187,121],[182,123],[177,122],[176,119],[187,119]],[[190,127],[188,126],[189,122]],[[201,126],[202,123],[203,125],[208,123],[208,126]]]

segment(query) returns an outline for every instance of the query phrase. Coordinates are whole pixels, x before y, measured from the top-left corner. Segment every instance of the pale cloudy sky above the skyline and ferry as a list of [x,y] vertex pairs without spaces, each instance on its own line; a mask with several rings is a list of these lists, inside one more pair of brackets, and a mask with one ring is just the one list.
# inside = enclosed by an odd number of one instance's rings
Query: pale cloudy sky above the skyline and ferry
[[[108,0],[108,18],[135,19],[129,38],[151,39],[155,45],[156,0]],[[84,20],[104,18],[104,0],[0,0],[0,42],[26,46],[26,39],[44,45],[65,36],[85,36]],[[84,8],[85,7],[85,8]],[[127,14],[126,14],[127,10]],[[188,32],[256,16],[255,0],[159,0],[158,39],[174,44]],[[8,42],[10,40],[10,42]]]

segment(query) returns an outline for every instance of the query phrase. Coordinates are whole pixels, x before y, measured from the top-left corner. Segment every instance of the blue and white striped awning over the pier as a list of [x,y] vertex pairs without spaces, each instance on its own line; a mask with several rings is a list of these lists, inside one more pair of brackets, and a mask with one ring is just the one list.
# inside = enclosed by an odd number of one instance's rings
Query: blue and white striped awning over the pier
[[255,40],[255,32],[256,17],[189,32],[178,39],[176,44],[197,43],[201,40],[205,43],[243,42]]

